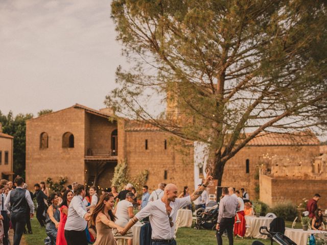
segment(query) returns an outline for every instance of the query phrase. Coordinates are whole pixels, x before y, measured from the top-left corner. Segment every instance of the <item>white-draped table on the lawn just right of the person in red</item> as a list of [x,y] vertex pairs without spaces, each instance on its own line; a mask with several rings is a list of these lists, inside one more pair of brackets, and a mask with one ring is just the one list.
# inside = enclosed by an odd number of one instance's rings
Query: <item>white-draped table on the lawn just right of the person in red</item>
[[261,226],[266,226],[269,229],[272,220],[273,218],[271,217],[245,215],[245,224],[246,226],[249,226],[245,233],[245,237],[267,239],[267,236],[260,234],[259,230]]

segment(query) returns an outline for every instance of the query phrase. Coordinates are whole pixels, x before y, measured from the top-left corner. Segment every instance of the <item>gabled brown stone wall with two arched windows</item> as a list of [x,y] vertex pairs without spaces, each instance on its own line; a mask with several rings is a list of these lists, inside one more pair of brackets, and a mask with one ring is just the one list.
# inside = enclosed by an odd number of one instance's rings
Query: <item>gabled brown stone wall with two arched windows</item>
[[[67,108],[30,119],[26,124],[26,182],[29,186],[68,177],[68,183],[84,183],[85,111]],[[40,149],[40,134],[48,133],[49,148]],[[74,148],[62,148],[62,135],[74,135]]]

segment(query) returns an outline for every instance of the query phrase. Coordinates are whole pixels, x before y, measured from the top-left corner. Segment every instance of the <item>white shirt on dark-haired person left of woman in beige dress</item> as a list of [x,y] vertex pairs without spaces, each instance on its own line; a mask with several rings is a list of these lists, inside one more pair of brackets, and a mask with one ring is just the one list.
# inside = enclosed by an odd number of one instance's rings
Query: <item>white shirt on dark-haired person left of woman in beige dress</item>
[[86,207],[83,203],[81,195],[75,195],[68,207],[68,216],[65,224],[67,231],[83,231],[87,226],[87,221],[84,219]]

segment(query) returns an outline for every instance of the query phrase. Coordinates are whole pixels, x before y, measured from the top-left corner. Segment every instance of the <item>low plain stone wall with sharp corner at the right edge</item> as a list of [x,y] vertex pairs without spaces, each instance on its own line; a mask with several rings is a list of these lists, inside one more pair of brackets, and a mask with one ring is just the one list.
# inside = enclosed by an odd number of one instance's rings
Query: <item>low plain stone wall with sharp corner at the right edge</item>
[[311,199],[315,193],[321,195],[318,206],[327,208],[327,180],[297,180],[271,178],[260,175],[260,200],[269,206],[292,202],[298,206],[303,198]]

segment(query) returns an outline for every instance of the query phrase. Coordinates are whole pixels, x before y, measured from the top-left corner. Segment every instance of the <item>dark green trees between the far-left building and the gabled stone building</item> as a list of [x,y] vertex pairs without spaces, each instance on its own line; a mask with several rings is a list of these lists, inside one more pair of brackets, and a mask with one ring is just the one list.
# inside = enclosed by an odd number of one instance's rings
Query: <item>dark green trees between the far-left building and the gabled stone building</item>
[[14,137],[13,170],[15,175],[25,178],[26,165],[26,120],[33,118],[33,114],[18,114],[12,111],[4,115],[0,111],[0,122],[3,132]]

